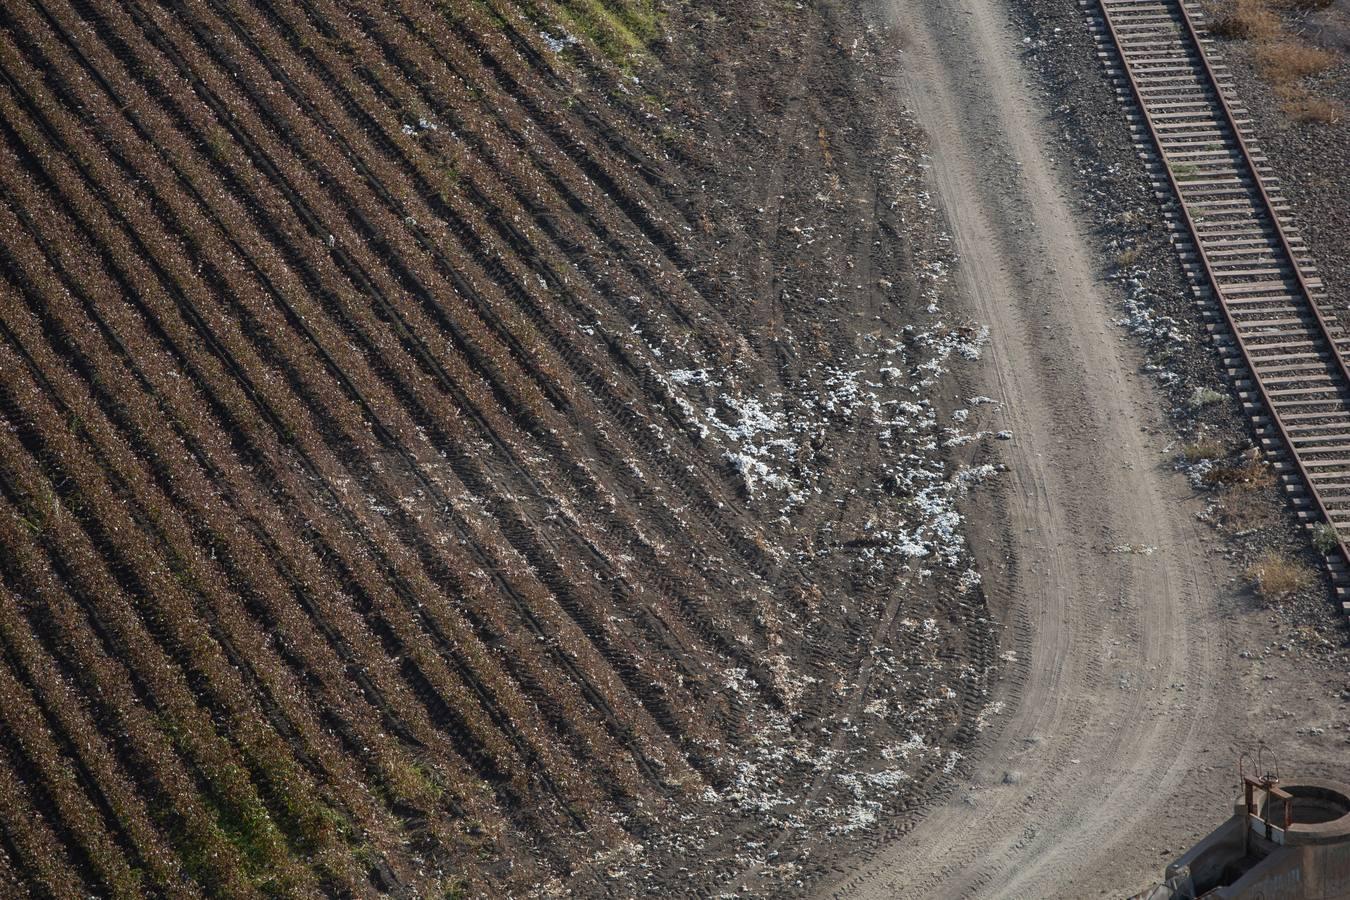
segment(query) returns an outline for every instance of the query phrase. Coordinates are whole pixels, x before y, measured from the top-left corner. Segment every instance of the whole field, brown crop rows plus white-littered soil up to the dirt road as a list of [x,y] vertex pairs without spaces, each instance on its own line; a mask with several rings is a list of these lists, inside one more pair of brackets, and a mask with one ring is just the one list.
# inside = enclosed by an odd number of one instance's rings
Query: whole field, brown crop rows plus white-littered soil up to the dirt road
[[883,31],[730,5],[0,11],[7,891],[794,885],[961,764],[984,335]]

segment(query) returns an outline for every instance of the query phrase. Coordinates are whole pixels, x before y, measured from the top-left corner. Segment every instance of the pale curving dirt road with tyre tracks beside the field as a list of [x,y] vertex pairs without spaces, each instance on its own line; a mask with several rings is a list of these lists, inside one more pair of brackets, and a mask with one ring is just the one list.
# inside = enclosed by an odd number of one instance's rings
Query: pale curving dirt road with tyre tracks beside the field
[[987,393],[1014,432],[1013,552],[984,542],[980,563],[1017,661],[972,783],[825,893],[1120,896],[1170,858],[1150,826],[1222,742],[1233,573],[1207,553],[1158,397],[1094,278],[1021,36],[998,0],[892,8],[905,103],[930,134],[961,286],[991,331]]

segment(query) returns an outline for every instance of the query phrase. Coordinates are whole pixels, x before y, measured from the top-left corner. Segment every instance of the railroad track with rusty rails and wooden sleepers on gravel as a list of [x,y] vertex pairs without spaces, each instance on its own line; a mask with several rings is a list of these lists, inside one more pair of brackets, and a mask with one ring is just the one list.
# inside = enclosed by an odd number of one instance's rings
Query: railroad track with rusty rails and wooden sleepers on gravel
[[1080,3],[1262,449],[1304,525],[1335,529],[1326,561],[1350,614],[1350,336],[1319,308],[1324,286],[1227,69],[1207,50],[1203,9]]

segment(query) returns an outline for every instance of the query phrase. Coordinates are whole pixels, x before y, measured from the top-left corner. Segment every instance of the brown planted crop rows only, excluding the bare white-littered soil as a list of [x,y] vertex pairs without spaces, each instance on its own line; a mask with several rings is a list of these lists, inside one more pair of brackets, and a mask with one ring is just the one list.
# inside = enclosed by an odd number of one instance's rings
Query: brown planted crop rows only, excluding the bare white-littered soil
[[0,864],[53,893],[529,881],[728,777],[718,663],[780,702],[659,151],[463,5],[0,11]]

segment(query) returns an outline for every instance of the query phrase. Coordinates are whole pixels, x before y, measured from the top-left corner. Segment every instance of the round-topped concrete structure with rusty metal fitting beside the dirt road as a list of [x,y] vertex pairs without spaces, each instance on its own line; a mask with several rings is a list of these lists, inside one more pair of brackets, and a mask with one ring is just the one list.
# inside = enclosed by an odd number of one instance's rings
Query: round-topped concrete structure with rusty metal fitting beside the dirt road
[[1137,900],[1350,899],[1350,787],[1246,777],[1233,818]]

